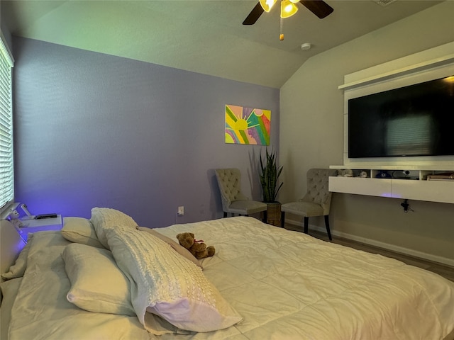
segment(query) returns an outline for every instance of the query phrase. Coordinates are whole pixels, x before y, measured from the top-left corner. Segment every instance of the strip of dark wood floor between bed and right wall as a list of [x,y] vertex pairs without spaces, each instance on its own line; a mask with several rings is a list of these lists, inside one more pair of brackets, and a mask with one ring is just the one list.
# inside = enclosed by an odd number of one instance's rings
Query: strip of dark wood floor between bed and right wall
[[[289,225],[287,223],[285,224],[285,228],[302,232],[301,227],[298,227],[295,225]],[[309,234],[313,237],[323,239],[323,241],[329,241],[328,236],[325,233],[321,233],[321,232],[317,232],[317,231],[313,231],[313,230],[311,231],[309,229]],[[428,271],[433,271],[433,273],[437,273],[438,275],[441,275],[441,276],[447,278],[448,280],[454,281],[454,267],[445,265],[443,263],[436,263],[433,261],[428,261],[426,259],[419,259],[417,257],[406,255],[406,254],[399,254],[394,251],[390,251],[388,249],[382,249],[377,246],[371,246],[369,244],[363,244],[360,242],[353,241],[351,239],[343,239],[341,237],[333,236],[333,240],[331,242],[336,243],[336,244],[341,244],[343,246],[350,246],[350,248],[367,251],[372,254],[380,254],[383,256],[392,257],[393,259],[397,259],[397,260],[402,261],[411,266],[416,266],[419,268],[426,269]]]

